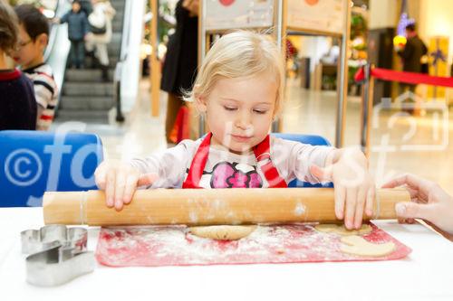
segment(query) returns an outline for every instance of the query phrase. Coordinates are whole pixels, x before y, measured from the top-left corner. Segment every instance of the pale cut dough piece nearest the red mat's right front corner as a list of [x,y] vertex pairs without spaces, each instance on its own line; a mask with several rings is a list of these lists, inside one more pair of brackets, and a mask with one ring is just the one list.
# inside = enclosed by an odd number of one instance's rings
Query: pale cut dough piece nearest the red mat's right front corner
[[363,256],[363,257],[382,257],[392,253],[396,246],[393,242],[371,243],[360,236],[352,235],[342,237],[343,253]]

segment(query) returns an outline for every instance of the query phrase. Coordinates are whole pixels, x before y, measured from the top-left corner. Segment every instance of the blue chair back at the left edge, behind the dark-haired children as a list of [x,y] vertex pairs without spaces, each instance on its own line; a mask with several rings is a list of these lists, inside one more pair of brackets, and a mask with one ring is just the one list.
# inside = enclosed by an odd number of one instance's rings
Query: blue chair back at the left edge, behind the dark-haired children
[[94,134],[0,131],[0,207],[41,206],[44,192],[96,189],[102,160]]

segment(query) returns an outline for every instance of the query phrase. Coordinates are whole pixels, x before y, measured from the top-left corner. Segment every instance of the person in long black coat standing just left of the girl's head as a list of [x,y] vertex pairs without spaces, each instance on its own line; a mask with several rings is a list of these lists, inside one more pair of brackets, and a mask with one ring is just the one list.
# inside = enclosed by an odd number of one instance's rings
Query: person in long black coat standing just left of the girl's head
[[167,142],[178,110],[184,104],[183,91],[192,89],[198,66],[198,0],[180,0],[176,7],[176,31],[169,38],[160,89],[169,93],[165,131]]

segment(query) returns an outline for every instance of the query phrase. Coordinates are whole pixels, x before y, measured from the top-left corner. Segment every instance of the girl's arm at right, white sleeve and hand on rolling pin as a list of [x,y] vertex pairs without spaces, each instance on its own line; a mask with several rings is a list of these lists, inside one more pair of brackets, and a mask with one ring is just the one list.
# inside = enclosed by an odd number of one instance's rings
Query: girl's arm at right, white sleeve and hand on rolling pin
[[360,228],[363,212],[372,215],[374,182],[359,149],[310,146],[277,138],[272,152],[286,182],[294,177],[310,183],[333,182],[335,214],[344,219],[346,228]]

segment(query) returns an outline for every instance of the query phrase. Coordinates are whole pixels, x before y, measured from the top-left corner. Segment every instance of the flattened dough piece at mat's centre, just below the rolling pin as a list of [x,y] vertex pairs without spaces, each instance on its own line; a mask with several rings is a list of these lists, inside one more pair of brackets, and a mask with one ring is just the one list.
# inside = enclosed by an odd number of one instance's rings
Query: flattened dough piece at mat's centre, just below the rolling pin
[[211,240],[240,240],[256,229],[256,226],[200,226],[190,227],[190,233]]

